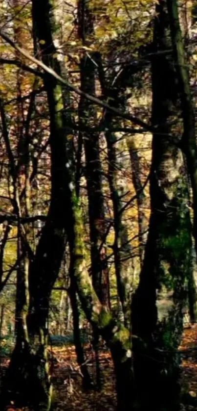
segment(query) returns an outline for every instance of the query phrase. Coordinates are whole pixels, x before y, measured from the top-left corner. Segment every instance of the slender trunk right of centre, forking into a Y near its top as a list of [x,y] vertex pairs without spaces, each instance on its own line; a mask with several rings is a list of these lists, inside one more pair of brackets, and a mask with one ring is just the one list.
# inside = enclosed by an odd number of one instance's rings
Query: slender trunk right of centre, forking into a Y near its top
[[[105,73],[102,65],[101,55],[97,55],[97,64],[99,72],[99,80],[102,88],[102,93],[106,100],[109,99],[114,107],[125,107],[126,98],[125,91],[128,81],[132,78],[136,68],[132,66],[126,67],[117,77],[110,87],[106,81]],[[137,69],[138,70],[138,69]],[[117,142],[116,134],[110,132],[111,127],[117,127],[119,122],[113,118],[113,115],[106,111],[105,119],[105,136],[108,149],[108,179],[110,196],[113,205],[114,215],[114,233],[115,239],[113,244],[114,265],[117,280],[118,296],[121,305],[121,316],[124,318],[125,326],[131,327],[131,294],[132,283],[134,277],[134,268],[132,261],[132,247],[129,238],[128,225],[124,215],[124,195],[127,192],[124,177],[121,176],[123,164],[121,161],[120,147]]]

